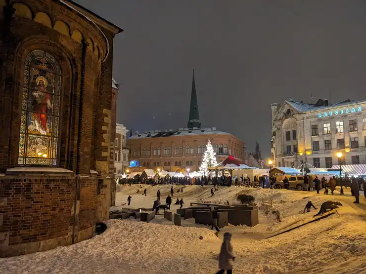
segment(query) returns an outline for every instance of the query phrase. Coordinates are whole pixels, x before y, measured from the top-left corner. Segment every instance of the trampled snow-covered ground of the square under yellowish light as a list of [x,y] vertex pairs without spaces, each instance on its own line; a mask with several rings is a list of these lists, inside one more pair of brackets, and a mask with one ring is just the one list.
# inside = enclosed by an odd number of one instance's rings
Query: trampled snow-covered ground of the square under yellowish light
[[[141,195],[145,186],[139,194],[138,185],[118,187],[116,208],[128,207],[121,206],[128,195],[132,196],[131,207],[150,208],[157,189],[162,201],[170,193],[169,185],[146,186],[147,196]],[[193,201],[232,203],[243,191],[254,195],[259,205],[262,199],[272,198],[281,222],[261,209],[259,225],[221,230],[233,234],[237,256],[234,273],[366,273],[366,200],[362,196],[361,204],[354,204],[349,190],[345,196],[338,192],[326,196],[316,192],[223,187],[211,198],[210,187],[187,186],[179,198],[183,197],[185,206]],[[326,200],[340,201],[343,206],[328,218],[268,238],[313,220],[318,210],[302,214],[308,200],[317,207]],[[172,205],[173,210],[176,208]],[[218,270],[222,233],[217,237],[209,227],[196,225],[193,220],[182,220],[182,227],[177,227],[158,215],[151,223],[129,219],[110,220],[107,224],[102,235],[74,245],[0,259],[0,273],[210,274]]]

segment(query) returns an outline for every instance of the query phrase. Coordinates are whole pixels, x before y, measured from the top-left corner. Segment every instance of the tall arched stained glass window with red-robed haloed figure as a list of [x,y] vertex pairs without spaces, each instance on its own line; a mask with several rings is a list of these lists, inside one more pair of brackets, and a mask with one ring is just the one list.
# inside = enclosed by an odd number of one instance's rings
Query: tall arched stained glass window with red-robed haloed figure
[[28,54],[22,92],[18,163],[58,165],[61,71],[52,55]]

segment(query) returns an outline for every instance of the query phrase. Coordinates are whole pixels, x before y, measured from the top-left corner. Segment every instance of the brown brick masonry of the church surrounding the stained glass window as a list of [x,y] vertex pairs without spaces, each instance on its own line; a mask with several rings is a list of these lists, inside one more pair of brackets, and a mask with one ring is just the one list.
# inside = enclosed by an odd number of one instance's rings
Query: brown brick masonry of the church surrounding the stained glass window
[[[5,7],[0,0],[0,173],[5,174],[0,174],[0,257],[92,236],[95,222],[108,219],[114,177],[108,153],[114,140],[112,45],[118,31],[101,19],[104,27],[95,27],[59,1],[16,2]],[[6,173],[18,166],[23,66],[35,49],[51,54],[61,68],[58,167],[73,171],[69,176]]]

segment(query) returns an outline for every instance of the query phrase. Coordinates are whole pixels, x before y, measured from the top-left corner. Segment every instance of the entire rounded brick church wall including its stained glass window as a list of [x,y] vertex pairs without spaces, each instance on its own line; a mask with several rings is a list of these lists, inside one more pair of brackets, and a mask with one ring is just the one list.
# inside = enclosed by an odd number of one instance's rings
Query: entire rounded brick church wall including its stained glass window
[[14,256],[108,218],[122,30],[70,0],[0,0],[0,21],[0,254]]

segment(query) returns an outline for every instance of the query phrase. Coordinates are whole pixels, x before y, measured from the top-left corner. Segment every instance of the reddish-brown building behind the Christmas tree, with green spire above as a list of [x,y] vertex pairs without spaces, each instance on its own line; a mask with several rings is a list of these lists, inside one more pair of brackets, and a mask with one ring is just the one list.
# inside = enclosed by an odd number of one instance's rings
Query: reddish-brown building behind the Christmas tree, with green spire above
[[218,162],[230,154],[245,163],[248,162],[249,154],[245,151],[244,142],[215,127],[201,128],[193,75],[187,127],[164,132],[136,132],[127,139],[131,172],[142,171],[145,168],[176,172],[184,172],[189,168],[189,171],[198,171],[209,139]]

